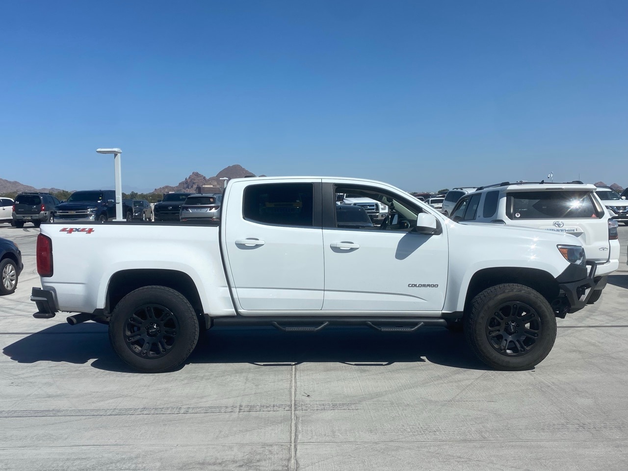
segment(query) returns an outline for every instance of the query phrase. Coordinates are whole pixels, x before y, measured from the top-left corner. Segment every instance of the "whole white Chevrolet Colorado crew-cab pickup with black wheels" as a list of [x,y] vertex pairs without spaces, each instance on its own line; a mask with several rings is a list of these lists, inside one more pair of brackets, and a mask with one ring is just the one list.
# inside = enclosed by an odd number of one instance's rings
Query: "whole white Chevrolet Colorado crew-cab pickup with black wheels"
[[[389,215],[338,224],[338,193]],[[230,180],[214,225],[42,224],[36,260],[33,316],[109,324],[114,350],[144,372],[185,362],[200,330],[222,325],[463,327],[486,364],[529,369],[549,354],[556,317],[583,308],[600,283],[569,234],[460,224],[352,178]]]

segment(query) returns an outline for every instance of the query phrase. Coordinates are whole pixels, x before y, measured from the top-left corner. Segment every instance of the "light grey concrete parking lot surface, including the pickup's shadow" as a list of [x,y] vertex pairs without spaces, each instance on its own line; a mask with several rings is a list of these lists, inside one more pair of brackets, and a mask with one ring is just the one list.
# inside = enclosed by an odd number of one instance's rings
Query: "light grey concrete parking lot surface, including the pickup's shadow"
[[0,225],[24,259],[0,298],[2,470],[628,468],[626,226],[601,300],[524,372],[444,328],[215,328],[178,371],[139,374],[106,326],[31,316],[38,233]]

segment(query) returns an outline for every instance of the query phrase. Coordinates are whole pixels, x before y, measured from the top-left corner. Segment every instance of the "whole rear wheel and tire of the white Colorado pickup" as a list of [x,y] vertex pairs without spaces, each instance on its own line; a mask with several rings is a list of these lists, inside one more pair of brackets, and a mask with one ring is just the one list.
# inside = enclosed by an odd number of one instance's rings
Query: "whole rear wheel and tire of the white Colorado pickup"
[[198,340],[198,317],[185,296],[165,286],[144,286],[117,304],[109,342],[127,365],[146,373],[176,368]]

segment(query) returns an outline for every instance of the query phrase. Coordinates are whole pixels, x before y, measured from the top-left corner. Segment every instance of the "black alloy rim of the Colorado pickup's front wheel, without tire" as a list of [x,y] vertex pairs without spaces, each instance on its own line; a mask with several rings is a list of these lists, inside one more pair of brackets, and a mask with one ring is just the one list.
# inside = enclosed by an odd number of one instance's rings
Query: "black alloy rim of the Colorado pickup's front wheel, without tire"
[[507,357],[525,355],[541,335],[536,311],[517,301],[498,306],[486,321],[486,337],[495,352]]

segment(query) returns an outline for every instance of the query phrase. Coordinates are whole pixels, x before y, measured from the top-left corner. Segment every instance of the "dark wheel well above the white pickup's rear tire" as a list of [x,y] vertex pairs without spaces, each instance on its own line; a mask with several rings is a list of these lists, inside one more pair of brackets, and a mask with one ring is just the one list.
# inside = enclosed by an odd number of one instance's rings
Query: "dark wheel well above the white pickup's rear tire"
[[105,310],[111,313],[124,296],[142,286],[166,286],[185,296],[198,315],[203,313],[203,305],[192,278],[187,273],[176,270],[133,269],[115,273],[109,279]]

